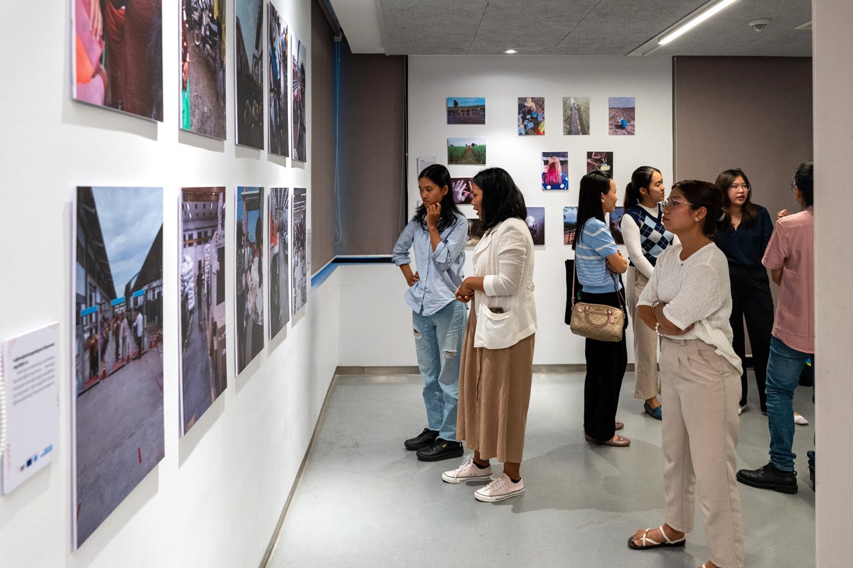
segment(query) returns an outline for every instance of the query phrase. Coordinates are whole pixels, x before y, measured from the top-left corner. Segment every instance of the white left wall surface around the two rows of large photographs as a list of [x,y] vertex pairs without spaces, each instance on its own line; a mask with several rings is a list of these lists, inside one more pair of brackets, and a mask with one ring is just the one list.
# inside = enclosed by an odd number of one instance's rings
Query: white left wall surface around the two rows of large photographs
[[[276,2],[308,43],[310,2]],[[70,341],[60,350],[61,444],[55,462],[0,497],[3,566],[252,566],[270,542],[305,454],[337,364],[338,275],[311,290],[287,339],[264,350],[235,378],[189,433],[178,439],[177,195],[182,186],[226,186],[234,227],[235,186],[304,186],[310,170],[282,167],[264,152],[236,148],[234,128],[234,4],[227,3],[228,141],[178,132],[177,0],[164,0],[164,122],[75,103],[68,64],[67,0],[32,11],[6,7],[0,39],[3,66],[15,79],[0,91],[4,202],[0,208],[0,337],[59,320],[70,337],[70,224],[78,185],[164,186],[165,198],[165,459],[143,479],[76,552],[71,552]],[[265,14],[265,11],[264,11]],[[38,24],[36,24],[38,22]],[[38,33],[33,35],[33,31]],[[311,74],[308,74],[310,101]],[[310,115],[310,102],[308,112]],[[310,136],[310,131],[309,131]],[[310,149],[310,138],[307,144]],[[310,156],[309,156],[310,160]],[[289,161],[287,166],[289,166]],[[309,193],[310,195],[310,193]],[[310,207],[310,198],[309,198]],[[310,215],[309,215],[310,219]],[[233,297],[234,243],[226,259]],[[233,341],[234,304],[228,302]],[[233,345],[233,344],[232,344]]]

